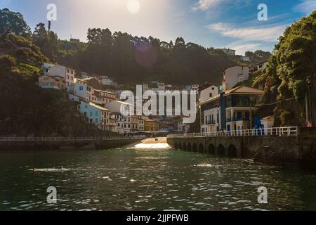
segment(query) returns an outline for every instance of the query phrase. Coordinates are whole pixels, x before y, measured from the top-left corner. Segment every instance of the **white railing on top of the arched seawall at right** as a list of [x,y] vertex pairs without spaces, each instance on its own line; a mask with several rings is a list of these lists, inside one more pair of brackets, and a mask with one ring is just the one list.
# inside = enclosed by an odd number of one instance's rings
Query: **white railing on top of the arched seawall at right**
[[263,129],[244,129],[239,131],[218,131],[211,133],[171,134],[168,138],[212,136],[298,136],[298,127],[273,127]]

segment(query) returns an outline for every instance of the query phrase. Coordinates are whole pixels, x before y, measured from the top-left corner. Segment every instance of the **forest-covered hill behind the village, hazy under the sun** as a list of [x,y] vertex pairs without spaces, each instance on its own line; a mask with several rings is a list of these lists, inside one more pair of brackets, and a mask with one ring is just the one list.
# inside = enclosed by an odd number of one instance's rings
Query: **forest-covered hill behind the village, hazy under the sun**
[[[219,84],[223,69],[233,65],[254,65],[268,60],[270,53],[257,51],[246,54],[251,62],[240,56],[227,56],[213,47],[186,43],[182,37],[162,41],[154,37],[137,37],[126,32],[91,28],[87,42],[79,39],[61,40],[58,34],[39,23],[31,32],[20,13],[8,9],[0,11],[0,33],[11,32],[31,39],[44,56],[55,63],[92,75],[108,75],[121,84],[159,81],[168,84]],[[13,25],[8,26],[8,24]],[[47,28],[46,28],[47,27]],[[261,57],[258,57],[261,53]]]

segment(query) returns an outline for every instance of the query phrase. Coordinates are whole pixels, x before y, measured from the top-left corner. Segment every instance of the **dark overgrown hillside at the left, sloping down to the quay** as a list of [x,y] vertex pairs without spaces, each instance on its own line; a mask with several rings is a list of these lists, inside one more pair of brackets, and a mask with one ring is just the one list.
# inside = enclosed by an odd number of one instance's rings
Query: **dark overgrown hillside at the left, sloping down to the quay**
[[48,59],[29,39],[0,34],[0,136],[93,136],[65,92],[40,89],[36,82]]

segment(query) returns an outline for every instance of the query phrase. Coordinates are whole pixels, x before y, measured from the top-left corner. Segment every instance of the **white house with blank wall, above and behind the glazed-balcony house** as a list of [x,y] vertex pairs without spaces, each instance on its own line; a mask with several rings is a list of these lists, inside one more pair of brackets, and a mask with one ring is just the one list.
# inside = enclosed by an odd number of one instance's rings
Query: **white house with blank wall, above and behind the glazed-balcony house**
[[223,91],[232,89],[239,82],[249,79],[249,68],[236,65],[223,71]]

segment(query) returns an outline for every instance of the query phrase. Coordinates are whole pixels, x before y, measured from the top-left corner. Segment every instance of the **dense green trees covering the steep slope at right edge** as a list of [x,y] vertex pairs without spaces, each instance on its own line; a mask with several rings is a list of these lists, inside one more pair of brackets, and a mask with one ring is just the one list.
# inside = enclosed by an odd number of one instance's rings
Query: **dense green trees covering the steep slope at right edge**
[[[316,100],[316,11],[284,31],[268,67],[256,77],[265,84],[265,101],[281,101],[275,107],[277,125],[305,122],[305,95],[310,79],[312,108]],[[295,101],[291,99],[295,98]]]

